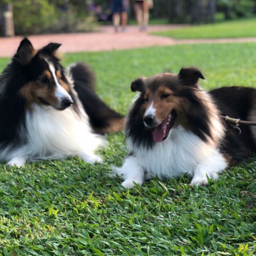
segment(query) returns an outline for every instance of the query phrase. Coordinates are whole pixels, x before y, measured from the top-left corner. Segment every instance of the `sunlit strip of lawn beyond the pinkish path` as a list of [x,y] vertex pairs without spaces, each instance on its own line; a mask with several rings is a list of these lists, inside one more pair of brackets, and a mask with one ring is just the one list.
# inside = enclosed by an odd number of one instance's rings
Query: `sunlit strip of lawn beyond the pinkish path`
[[152,34],[175,39],[256,37],[256,18],[191,26]]

